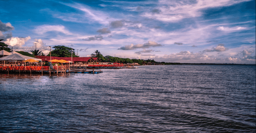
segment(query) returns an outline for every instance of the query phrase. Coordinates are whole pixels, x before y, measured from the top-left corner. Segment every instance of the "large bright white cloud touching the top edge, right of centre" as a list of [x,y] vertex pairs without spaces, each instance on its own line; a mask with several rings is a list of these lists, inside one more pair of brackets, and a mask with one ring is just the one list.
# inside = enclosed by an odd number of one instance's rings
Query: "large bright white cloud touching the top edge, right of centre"
[[184,18],[199,17],[202,15],[201,10],[206,8],[216,8],[222,6],[231,6],[244,1],[250,0],[198,0],[198,1],[170,1],[159,0],[157,10],[159,14],[152,14],[151,10],[145,12],[142,16],[153,18],[162,22],[177,22]]

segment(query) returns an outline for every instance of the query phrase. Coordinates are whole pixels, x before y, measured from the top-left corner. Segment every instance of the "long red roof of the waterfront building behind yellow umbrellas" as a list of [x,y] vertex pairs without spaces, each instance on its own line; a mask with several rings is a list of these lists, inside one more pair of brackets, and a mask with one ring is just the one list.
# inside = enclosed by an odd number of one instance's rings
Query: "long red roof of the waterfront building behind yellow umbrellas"
[[[49,56],[35,56],[36,58],[42,59],[42,61],[50,61]],[[92,57],[73,57],[72,61],[74,62],[87,62],[90,60]],[[65,61],[71,61],[71,57],[52,57],[52,60],[65,60]],[[95,61],[97,58],[92,58],[93,61]]]

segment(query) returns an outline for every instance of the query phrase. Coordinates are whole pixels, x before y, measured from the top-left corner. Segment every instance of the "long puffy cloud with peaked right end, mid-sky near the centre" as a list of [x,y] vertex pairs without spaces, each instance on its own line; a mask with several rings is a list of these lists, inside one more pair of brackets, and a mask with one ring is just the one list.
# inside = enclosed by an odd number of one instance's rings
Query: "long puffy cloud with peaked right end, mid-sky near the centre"
[[160,47],[160,46],[163,46],[161,44],[158,44],[154,41],[148,41],[148,43],[144,43],[144,44],[131,44],[131,45],[125,45],[124,47],[120,47],[119,49],[122,49],[122,50],[132,50],[132,49],[146,49],[146,48],[149,48],[149,47]]

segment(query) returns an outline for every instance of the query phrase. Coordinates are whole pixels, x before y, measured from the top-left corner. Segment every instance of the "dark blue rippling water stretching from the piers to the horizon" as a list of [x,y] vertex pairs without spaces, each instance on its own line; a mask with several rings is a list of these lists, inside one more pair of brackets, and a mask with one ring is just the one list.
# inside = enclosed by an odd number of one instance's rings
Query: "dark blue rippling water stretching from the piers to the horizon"
[[0,132],[254,132],[255,65],[0,74]]

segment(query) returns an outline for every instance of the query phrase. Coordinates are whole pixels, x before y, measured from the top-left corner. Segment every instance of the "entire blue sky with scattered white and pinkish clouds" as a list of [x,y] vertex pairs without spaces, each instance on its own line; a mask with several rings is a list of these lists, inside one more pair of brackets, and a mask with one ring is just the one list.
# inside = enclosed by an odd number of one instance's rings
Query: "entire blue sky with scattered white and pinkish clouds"
[[[255,0],[1,0],[0,39],[15,51],[170,63],[256,64]],[[51,49],[52,50],[52,49]]]

